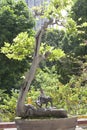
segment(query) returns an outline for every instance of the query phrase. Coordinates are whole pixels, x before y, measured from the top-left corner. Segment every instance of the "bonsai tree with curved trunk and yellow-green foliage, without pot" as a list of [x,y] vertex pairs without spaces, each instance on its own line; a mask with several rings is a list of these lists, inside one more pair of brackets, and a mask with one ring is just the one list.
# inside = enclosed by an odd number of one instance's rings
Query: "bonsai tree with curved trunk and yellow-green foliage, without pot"
[[[58,48],[53,48],[51,46],[47,46],[46,44],[41,43],[41,38],[43,33],[47,30],[49,25],[59,25],[64,26],[66,24],[65,18],[68,18],[65,14],[68,13],[71,6],[71,0],[52,0],[48,7],[41,8],[41,11],[34,9],[35,15],[43,15],[46,17],[46,21],[43,26],[36,32],[36,35],[28,36],[27,32],[19,34],[14,40],[13,44],[5,43],[5,46],[2,48],[2,53],[5,53],[7,57],[14,58],[17,60],[22,60],[26,56],[33,55],[32,63],[30,69],[26,72],[25,79],[19,91],[19,97],[17,101],[17,116],[27,117],[30,115],[30,111],[32,109],[32,115],[44,115],[43,113],[49,115],[49,112],[44,112],[41,110],[41,113],[34,107],[25,105],[25,98],[29,91],[30,85],[34,79],[35,72],[38,68],[39,63],[42,60],[45,60],[49,57],[49,59],[58,59],[61,56],[64,56],[64,52]],[[37,13],[36,13],[37,12]],[[58,110],[53,110],[53,116],[56,116]],[[63,113],[64,117],[67,117],[66,113]]]

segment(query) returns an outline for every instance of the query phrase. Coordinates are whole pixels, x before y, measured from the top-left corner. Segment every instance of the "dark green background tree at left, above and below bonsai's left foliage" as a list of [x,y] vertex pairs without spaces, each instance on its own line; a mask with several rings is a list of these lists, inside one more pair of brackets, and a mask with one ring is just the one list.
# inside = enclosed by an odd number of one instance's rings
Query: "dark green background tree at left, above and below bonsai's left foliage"
[[[22,0],[0,2],[0,48],[4,42],[12,44],[20,32],[27,31],[28,35],[33,35],[31,29],[34,25],[34,18]],[[29,67],[28,60],[13,60],[0,53],[0,88],[5,88],[8,92],[11,88],[16,88],[20,84],[20,77]]]

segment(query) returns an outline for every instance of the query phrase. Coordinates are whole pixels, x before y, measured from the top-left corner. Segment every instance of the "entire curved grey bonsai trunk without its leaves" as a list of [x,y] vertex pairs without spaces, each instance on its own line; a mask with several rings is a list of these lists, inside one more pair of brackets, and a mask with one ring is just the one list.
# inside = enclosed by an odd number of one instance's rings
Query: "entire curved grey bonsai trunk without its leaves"
[[20,94],[19,94],[19,98],[18,98],[18,102],[17,102],[17,107],[16,107],[17,116],[24,117],[24,115],[25,115],[26,109],[25,109],[24,103],[25,103],[26,95],[28,93],[31,82],[34,78],[38,64],[40,63],[41,60],[46,58],[46,55],[42,55],[42,56],[39,55],[42,34],[45,31],[45,29],[48,27],[48,25],[51,24],[52,22],[53,22],[52,19],[48,22],[45,22],[44,25],[41,27],[41,29],[36,34],[36,37],[35,37],[35,39],[36,39],[35,45],[36,46],[35,46],[34,57],[33,57],[31,68],[27,72],[23,86],[21,87],[21,90],[20,90]]

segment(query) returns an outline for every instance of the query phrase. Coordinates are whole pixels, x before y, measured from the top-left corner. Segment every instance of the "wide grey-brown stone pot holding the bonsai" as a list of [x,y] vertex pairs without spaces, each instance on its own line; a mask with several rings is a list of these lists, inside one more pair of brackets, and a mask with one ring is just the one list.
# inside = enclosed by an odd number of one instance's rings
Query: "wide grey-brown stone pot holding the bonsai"
[[75,130],[77,118],[16,119],[17,130]]

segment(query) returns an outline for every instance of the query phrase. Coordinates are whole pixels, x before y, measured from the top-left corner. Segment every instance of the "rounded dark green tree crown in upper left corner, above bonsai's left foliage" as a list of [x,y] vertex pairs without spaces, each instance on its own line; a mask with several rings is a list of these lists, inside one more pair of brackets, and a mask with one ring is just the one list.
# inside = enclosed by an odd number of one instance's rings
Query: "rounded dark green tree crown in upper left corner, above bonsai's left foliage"
[[0,4],[0,46],[11,43],[20,32],[30,32],[33,26],[34,18],[23,1],[7,0]]

